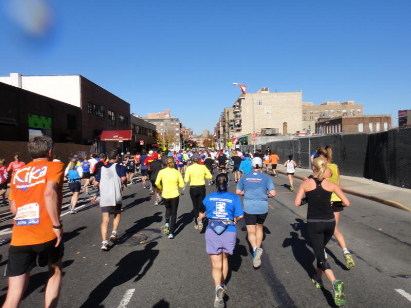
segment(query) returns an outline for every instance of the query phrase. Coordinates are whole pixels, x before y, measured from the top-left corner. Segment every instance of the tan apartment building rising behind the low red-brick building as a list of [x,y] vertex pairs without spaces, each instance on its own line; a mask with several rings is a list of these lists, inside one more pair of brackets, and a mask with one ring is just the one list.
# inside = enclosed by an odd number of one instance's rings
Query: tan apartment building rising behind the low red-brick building
[[303,102],[301,132],[313,132],[315,122],[322,117],[353,117],[363,115],[363,105],[354,101],[325,102],[321,105],[313,105],[312,102]]

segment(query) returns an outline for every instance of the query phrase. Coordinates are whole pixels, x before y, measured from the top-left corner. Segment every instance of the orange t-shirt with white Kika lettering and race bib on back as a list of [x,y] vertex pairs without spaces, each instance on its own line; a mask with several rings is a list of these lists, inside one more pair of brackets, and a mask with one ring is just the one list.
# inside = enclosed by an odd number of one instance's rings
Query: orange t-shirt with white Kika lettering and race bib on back
[[9,199],[15,201],[17,214],[10,245],[42,244],[56,238],[44,192],[48,181],[59,184],[57,207],[61,211],[64,169],[62,162],[41,160],[30,162],[14,173]]

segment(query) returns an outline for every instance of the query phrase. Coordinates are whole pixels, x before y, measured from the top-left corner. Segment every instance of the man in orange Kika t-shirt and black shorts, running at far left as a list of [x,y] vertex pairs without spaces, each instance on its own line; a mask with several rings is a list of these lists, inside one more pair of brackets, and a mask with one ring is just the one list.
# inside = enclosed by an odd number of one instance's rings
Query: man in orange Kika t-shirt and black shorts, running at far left
[[48,265],[45,306],[57,307],[62,283],[63,225],[60,222],[64,164],[52,162],[54,143],[47,136],[28,143],[33,161],[14,172],[10,210],[15,215],[6,275],[9,287],[3,307],[17,307],[30,271]]

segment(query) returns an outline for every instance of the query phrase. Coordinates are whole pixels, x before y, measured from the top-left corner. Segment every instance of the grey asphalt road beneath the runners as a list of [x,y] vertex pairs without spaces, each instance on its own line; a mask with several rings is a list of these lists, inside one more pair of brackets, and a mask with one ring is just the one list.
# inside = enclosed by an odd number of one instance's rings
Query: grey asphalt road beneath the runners
[[[230,176],[232,176],[230,174]],[[286,176],[272,178],[277,196],[265,224],[263,263],[252,267],[244,221],[237,226],[237,246],[230,258],[227,307],[334,307],[330,283],[316,289],[314,255],[306,233],[306,207],[294,207],[295,191],[288,190]],[[301,183],[295,180],[295,190]],[[229,190],[234,192],[232,181]],[[215,188],[207,186],[207,191]],[[67,190],[65,190],[67,192]],[[62,217],[65,231],[64,280],[59,307],[212,307],[214,286],[211,262],[205,252],[203,232],[194,229],[189,187],[181,191],[175,239],[162,233],[164,206],[141,183],[125,189],[121,244],[100,251],[99,208],[81,198],[77,215]],[[69,203],[66,193],[64,207]],[[340,229],[352,250],[356,267],[344,266],[335,241],[327,246],[335,275],[346,285],[347,307],[411,307],[411,234],[409,212],[348,196],[351,207],[342,212]],[[7,238],[11,216],[0,207],[0,238]],[[145,243],[134,240],[142,233]],[[7,261],[7,244],[0,246],[0,271]],[[21,304],[43,306],[47,273],[36,267]],[[7,279],[0,278],[0,303]],[[396,291],[400,290],[400,291]],[[402,290],[402,291],[401,291]],[[409,296],[411,297],[411,296]]]

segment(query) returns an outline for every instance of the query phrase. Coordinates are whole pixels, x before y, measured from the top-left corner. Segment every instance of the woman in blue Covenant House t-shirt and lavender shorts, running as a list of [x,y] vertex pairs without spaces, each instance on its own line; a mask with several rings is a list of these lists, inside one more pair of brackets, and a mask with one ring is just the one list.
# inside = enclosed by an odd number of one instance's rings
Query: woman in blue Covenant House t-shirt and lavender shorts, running
[[[210,219],[206,230],[206,251],[210,254],[213,265],[213,279],[215,283],[214,307],[224,307],[223,297],[226,294],[226,278],[228,274],[228,255],[232,255],[237,240],[235,224],[242,219],[244,213],[240,198],[227,191],[230,179],[225,172],[217,175],[215,184],[217,191],[206,196],[200,209],[199,217]],[[226,222],[222,233],[212,227]]]

